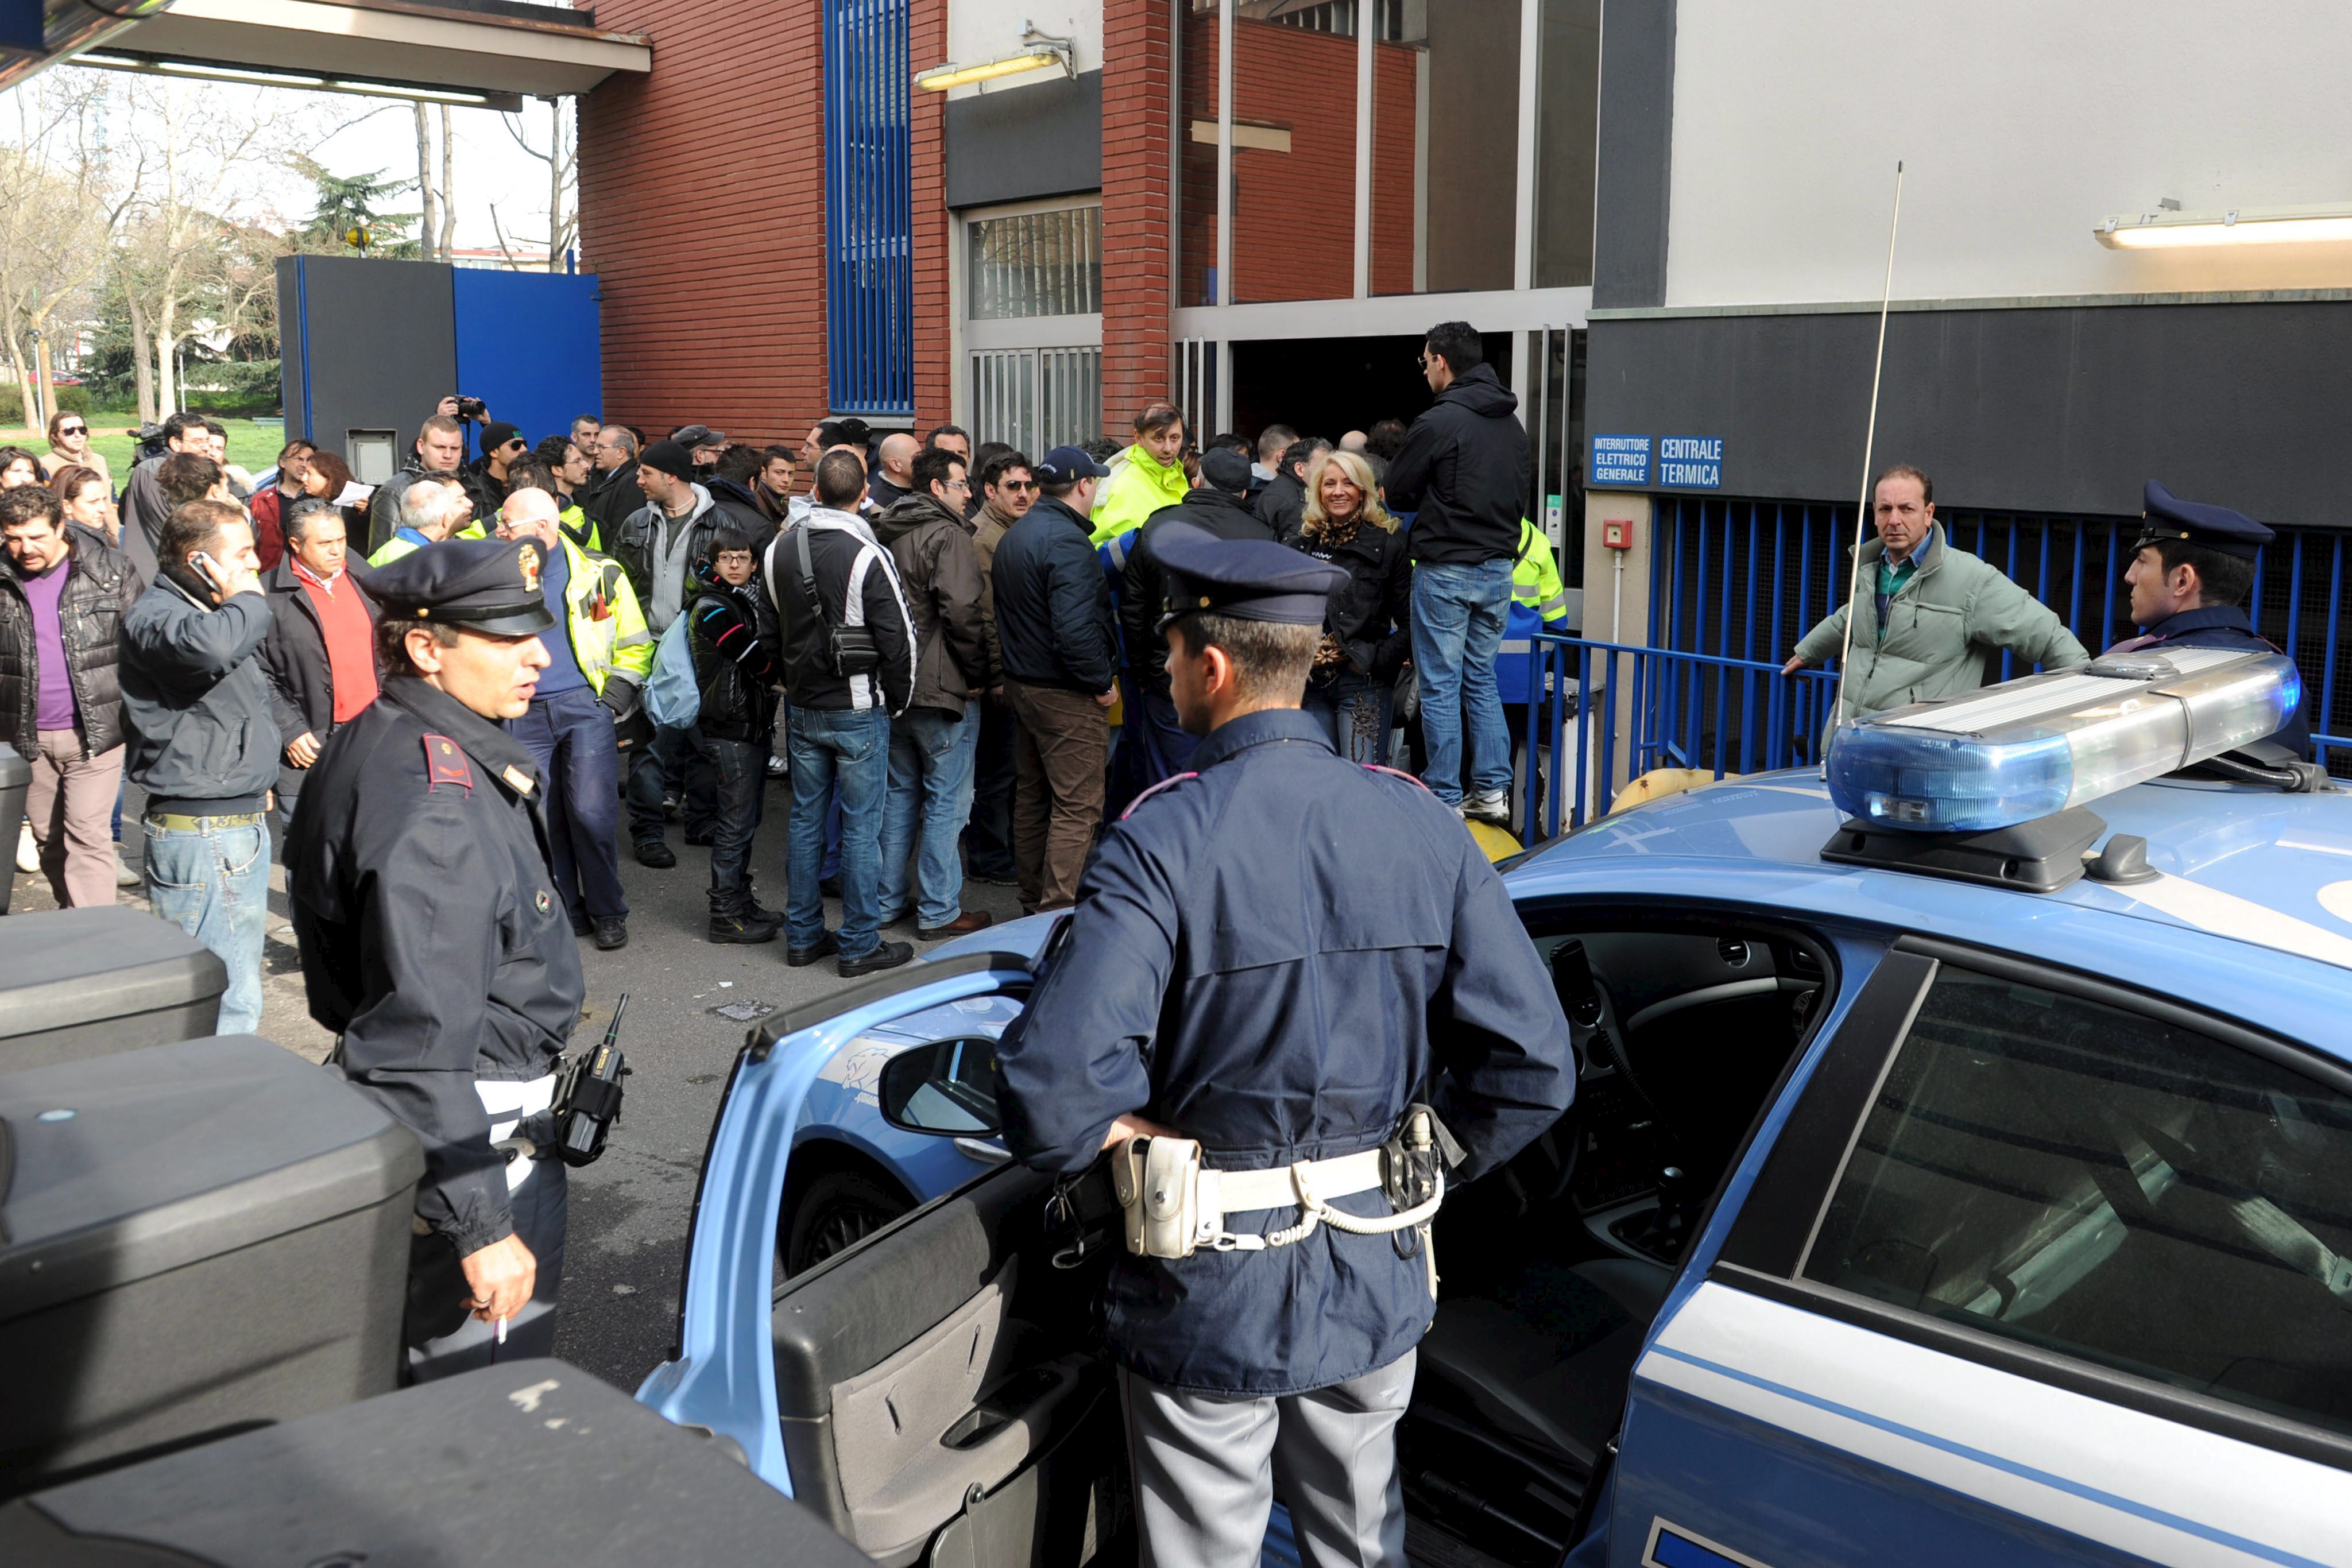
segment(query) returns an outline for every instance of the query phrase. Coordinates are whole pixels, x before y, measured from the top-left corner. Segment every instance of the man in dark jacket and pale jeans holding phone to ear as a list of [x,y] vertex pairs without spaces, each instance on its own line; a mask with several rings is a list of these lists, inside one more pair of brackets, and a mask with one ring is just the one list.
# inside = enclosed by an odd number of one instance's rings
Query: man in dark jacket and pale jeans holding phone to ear
[[158,571],[122,616],[125,776],[146,790],[146,896],[221,954],[221,1034],[261,1027],[270,912],[270,785],[278,719],[261,642],[254,524],[228,501],[186,501],[155,538]]

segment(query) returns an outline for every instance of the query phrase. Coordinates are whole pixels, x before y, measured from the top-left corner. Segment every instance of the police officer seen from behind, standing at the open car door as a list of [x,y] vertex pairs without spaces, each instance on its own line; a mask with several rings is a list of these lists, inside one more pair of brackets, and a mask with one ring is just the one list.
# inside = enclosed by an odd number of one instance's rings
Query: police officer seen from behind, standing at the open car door
[[[1395,1425],[1435,1267],[1381,1150],[1428,1103],[1461,1154],[1444,1180],[1508,1159],[1569,1105],[1569,1025],[1454,811],[1298,712],[1343,571],[1190,527],[1152,550],[1202,741],[1103,835],[1000,1044],[1004,1135],[1044,1171],[1110,1150],[1145,1566],[1256,1563],[1279,1486],[1308,1563],[1402,1568]],[[1190,1166],[1223,1201],[1160,1218],[1204,1201]]]

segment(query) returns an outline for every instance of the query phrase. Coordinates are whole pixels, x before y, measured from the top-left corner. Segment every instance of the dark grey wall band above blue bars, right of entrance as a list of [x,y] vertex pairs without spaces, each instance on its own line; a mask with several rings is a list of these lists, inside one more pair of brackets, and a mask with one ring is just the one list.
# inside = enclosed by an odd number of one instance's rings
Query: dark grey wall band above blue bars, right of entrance
[[[1595,320],[1585,428],[1719,435],[1726,496],[1853,501],[1875,339],[1875,313]],[[2154,477],[2352,527],[2347,409],[2352,301],[1896,310],[1875,465],[1947,505],[2136,515]]]

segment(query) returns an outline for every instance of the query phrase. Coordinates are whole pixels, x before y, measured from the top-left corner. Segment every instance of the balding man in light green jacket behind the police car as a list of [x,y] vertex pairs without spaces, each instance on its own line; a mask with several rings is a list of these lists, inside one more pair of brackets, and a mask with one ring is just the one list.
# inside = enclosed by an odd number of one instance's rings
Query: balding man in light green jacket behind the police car
[[[2091,661],[2056,611],[1997,567],[1952,548],[1924,473],[1907,463],[1882,473],[1870,510],[1879,536],[1860,550],[1853,590],[1860,618],[1846,654],[1844,710],[1832,712],[1823,736],[1837,717],[1851,722],[1976,691],[2002,651],[2046,670]],[[1846,646],[1846,609],[1806,632],[1780,672],[1837,658]]]

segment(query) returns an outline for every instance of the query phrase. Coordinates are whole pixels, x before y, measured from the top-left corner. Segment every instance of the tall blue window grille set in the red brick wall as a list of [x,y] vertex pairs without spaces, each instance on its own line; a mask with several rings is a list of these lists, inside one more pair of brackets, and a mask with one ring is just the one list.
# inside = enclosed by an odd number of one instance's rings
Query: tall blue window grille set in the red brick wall
[[908,0],[826,0],[826,362],[837,414],[915,411]]

